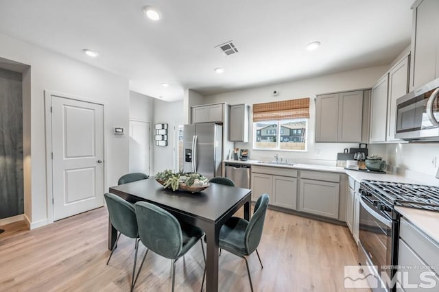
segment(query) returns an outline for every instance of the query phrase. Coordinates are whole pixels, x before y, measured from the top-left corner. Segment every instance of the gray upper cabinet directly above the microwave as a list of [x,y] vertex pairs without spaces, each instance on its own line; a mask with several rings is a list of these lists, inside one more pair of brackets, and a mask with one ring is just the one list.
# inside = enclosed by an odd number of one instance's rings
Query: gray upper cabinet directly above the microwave
[[439,77],[439,1],[416,1],[413,8],[410,90]]

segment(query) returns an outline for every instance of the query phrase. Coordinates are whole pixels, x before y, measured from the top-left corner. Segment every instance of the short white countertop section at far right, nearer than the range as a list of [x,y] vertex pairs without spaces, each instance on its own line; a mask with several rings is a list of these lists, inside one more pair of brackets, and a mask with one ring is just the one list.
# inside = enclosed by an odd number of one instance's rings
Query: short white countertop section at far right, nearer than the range
[[395,210],[439,244],[439,212],[399,206]]

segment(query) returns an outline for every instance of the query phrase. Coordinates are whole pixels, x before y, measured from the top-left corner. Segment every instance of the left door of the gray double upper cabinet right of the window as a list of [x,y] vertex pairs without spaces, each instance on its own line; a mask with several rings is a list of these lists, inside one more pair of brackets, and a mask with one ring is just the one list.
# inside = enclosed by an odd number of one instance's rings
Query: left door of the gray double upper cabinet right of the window
[[338,93],[319,95],[316,99],[316,142],[337,142]]

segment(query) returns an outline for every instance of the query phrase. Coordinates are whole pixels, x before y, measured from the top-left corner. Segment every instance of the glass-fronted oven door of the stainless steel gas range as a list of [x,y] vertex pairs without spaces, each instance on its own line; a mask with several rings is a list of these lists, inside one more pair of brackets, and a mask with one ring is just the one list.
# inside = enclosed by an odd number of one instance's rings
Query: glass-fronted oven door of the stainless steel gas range
[[[392,279],[392,232],[393,221],[388,213],[374,206],[368,197],[361,197],[359,210],[359,259],[361,265],[370,267],[380,279],[383,273]],[[386,284],[385,279],[380,282]],[[384,285],[385,285],[384,284]],[[382,285],[379,284],[379,287]],[[378,288],[379,288],[378,287]],[[390,290],[390,288],[388,288]],[[384,291],[374,289],[373,291]]]

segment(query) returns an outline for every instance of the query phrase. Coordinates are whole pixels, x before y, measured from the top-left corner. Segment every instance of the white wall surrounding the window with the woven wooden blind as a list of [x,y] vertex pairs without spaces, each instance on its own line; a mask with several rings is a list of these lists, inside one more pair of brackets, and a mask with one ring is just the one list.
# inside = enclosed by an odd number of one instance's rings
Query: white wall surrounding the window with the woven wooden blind
[[[331,93],[359,88],[371,88],[375,82],[388,71],[388,66],[376,66],[367,69],[324,75],[306,80],[298,80],[282,84],[237,90],[229,93],[206,96],[205,104],[227,102],[229,104],[258,104],[270,101],[298,99],[310,97],[310,117],[308,124],[308,149],[307,152],[294,151],[261,151],[252,150],[252,142],[235,143],[235,147],[250,149],[250,158],[257,160],[272,160],[274,154],[292,160],[294,162],[318,163],[320,165],[335,165],[337,152],[342,152],[346,147],[357,147],[354,143],[314,143],[316,127],[316,110],[313,98],[322,93]],[[276,97],[272,91],[278,90]],[[251,109],[250,109],[251,111]],[[250,120],[252,115],[250,114]],[[250,141],[252,141],[252,122],[250,121]],[[385,150],[384,150],[385,151]]]

